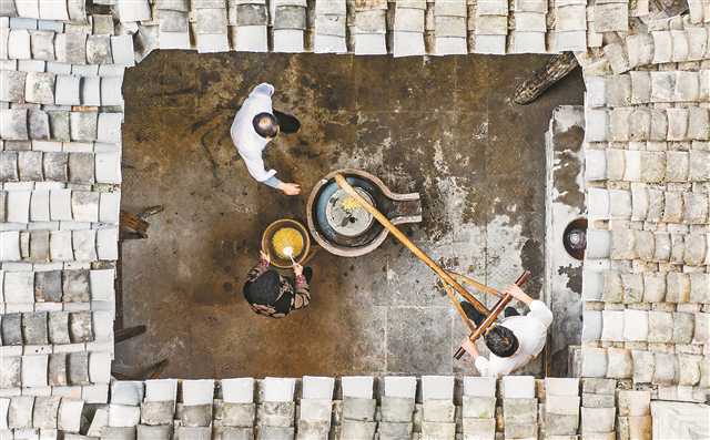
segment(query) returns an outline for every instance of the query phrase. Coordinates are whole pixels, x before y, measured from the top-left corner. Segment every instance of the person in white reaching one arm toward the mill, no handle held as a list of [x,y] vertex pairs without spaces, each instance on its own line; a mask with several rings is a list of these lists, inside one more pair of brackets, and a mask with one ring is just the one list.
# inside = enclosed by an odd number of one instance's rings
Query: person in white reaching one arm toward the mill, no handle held
[[268,83],[255,86],[236,112],[230,134],[252,177],[286,195],[297,195],[301,185],[281,182],[275,170],[266,171],[262,158],[262,152],[280,131],[295,133],[301,125],[295,117],[272,109],[273,94],[274,86]]

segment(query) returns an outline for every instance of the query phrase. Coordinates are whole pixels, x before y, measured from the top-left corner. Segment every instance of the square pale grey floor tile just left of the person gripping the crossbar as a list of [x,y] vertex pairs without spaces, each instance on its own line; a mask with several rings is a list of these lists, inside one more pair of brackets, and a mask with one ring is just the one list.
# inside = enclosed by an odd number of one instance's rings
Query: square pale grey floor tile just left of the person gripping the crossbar
[[[452,372],[448,308],[392,307],[388,315],[387,371]],[[423,335],[422,328],[430,330]]]

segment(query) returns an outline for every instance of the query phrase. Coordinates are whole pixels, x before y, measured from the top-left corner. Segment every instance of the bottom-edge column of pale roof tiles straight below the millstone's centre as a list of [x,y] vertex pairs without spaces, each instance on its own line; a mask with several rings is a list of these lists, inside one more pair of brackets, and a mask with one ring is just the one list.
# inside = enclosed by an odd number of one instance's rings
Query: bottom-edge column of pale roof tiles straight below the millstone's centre
[[[377,400],[373,398],[372,376],[351,376],[341,379],[343,390],[341,439],[373,439],[377,430],[375,412]],[[381,431],[379,438],[387,432]]]

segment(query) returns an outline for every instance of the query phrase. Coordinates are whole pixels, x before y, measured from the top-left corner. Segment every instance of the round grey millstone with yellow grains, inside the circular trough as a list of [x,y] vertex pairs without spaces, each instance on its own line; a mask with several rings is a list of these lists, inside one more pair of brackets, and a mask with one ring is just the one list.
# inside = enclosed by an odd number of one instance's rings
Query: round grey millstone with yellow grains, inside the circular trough
[[[373,197],[359,187],[355,191],[371,204]],[[357,201],[347,195],[345,191],[337,190],[325,206],[325,217],[337,234],[346,237],[356,237],[372,226],[374,218],[365,208],[359,206]]]

